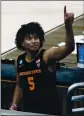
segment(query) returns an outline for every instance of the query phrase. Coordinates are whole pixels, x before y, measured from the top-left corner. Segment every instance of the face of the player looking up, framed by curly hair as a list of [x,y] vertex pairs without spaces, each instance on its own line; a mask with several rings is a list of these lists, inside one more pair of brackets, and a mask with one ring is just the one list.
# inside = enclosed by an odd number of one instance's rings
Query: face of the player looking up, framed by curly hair
[[40,48],[40,40],[36,34],[27,35],[22,43],[26,50],[37,51]]

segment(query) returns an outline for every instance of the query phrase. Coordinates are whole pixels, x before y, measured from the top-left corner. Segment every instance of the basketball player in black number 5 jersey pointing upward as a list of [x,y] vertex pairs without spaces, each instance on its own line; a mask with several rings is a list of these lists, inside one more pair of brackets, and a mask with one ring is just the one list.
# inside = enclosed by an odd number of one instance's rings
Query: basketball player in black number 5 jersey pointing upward
[[22,92],[24,111],[59,114],[59,104],[56,102],[56,61],[74,50],[73,20],[73,13],[67,13],[65,6],[66,44],[59,48],[42,49],[44,31],[37,22],[22,25],[18,30],[15,43],[25,53],[17,59],[16,88],[10,109],[17,108]]

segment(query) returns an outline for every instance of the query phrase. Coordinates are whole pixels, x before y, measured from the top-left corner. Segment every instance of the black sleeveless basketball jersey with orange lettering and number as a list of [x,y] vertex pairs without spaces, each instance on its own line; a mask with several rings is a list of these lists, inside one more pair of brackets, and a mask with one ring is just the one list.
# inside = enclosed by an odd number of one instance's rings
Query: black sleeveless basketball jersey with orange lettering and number
[[54,101],[56,99],[56,71],[52,73],[48,71],[48,65],[43,61],[44,51],[41,50],[32,62],[26,62],[26,53],[20,55],[17,60],[19,84],[23,91],[25,109],[32,106],[34,109],[37,106],[38,108],[46,107],[48,104],[52,107],[56,104]]

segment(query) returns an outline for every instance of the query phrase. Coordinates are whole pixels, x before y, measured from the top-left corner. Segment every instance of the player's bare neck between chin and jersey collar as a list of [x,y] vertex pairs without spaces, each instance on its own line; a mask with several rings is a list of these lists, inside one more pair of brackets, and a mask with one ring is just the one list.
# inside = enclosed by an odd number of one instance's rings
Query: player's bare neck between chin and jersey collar
[[35,57],[39,54],[39,52],[40,52],[40,50],[35,51],[35,52],[27,51],[27,55],[26,55],[25,60],[26,60],[27,62],[31,62],[32,60],[35,59]]

